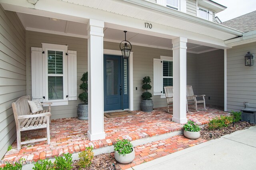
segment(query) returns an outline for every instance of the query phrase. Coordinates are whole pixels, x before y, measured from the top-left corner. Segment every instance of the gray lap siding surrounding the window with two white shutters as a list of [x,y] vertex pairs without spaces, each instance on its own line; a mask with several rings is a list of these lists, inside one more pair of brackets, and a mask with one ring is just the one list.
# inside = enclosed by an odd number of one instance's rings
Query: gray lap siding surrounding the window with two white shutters
[[[88,70],[87,39],[54,35],[34,31],[26,31],[26,65],[27,65],[27,94],[31,96],[31,47],[42,47],[41,43],[68,45],[68,50],[77,51],[77,90],[78,95],[82,74]],[[52,106],[52,119],[77,117],[77,106],[80,100],[68,101],[66,106]]]

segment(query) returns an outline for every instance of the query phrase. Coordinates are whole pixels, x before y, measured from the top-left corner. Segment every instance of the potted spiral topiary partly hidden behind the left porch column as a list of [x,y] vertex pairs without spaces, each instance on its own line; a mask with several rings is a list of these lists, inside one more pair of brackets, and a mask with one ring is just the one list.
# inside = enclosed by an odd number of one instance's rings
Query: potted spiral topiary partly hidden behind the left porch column
[[78,98],[84,103],[78,104],[77,115],[80,120],[88,120],[88,72],[85,72],[80,80],[82,84],[79,87],[83,92],[79,94]]

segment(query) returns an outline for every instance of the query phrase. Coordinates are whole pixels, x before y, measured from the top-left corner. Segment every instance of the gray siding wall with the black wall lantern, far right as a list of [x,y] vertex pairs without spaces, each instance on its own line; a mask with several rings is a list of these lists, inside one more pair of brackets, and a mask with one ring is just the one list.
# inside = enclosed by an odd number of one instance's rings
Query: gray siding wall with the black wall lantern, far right
[[256,107],[256,60],[254,66],[244,66],[248,51],[256,54],[256,42],[227,50],[227,111],[240,111],[244,102]]

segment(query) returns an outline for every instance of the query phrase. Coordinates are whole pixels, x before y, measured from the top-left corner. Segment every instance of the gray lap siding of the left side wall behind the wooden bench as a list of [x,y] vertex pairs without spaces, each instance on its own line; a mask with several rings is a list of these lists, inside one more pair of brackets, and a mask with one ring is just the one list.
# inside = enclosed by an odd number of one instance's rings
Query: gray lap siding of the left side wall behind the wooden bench
[[0,6],[0,158],[16,139],[12,102],[26,95],[25,30]]

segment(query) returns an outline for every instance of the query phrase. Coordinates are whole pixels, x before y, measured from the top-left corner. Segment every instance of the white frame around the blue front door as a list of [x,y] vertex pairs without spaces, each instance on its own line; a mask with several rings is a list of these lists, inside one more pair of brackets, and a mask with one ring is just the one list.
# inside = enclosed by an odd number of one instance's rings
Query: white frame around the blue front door
[[[122,55],[120,50],[103,49],[103,54]],[[129,109],[133,110],[133,52],[129,57]]]

